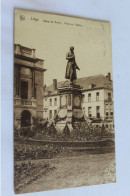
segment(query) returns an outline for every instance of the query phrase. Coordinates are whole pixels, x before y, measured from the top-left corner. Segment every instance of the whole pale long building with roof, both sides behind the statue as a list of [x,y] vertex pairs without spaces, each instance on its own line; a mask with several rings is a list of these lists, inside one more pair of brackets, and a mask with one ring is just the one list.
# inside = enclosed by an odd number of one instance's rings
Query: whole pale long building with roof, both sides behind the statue
[[[58,88],[65,81],[53,80],[53,84],[46,88],[44,97],[44,118],[52,119],[60,107]],[[68,81],[66,82],[66,84]],[[82,109],[92,120],[113,121],[113,82],[111,74],[78,78],[76,84],[83,87]]]

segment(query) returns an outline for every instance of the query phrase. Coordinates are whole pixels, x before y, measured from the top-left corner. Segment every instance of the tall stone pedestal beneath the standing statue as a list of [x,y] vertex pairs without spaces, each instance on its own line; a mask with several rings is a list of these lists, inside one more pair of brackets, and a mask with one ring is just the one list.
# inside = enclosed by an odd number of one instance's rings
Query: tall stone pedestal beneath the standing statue
[[84,119],[81,108],[82,88],[76,84],[68,84],[61,86],[58,91],[60,94],[60,109],[56,127],[62,132],[67,125],[71,132]]

